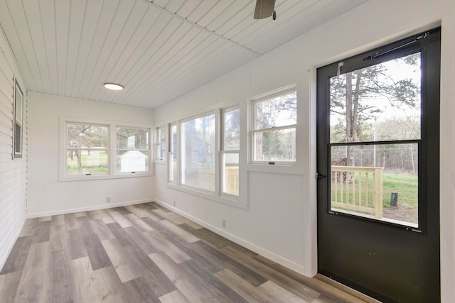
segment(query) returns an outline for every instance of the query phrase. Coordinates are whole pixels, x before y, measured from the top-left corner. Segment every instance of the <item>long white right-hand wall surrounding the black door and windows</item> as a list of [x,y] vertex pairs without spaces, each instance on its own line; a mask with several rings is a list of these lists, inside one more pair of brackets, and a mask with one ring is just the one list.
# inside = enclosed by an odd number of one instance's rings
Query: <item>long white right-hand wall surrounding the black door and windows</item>
[[[442,25],[441,71],[441,275],[442,298],[455,297],[455,1],[376,1],[343,14],[335,20],[282,45],[250,64],[215,79],[194,92],[155,111],[156,125],[198,114],[218,106],[240,104],[243,126],[241,162],[246,163],[247,99],[256,94],[297,84],[299,170],[260,172],[243,165],[241,193],[248,209],[166,187],[166,165],[156,166],[156,201],[196,219],[218,233],[256,250],[279,263],[312,276],[316,274],[316,154],[315,72],[344,57],[355,55],[412,33]],[[227,220],[226,228],[221,227]]]

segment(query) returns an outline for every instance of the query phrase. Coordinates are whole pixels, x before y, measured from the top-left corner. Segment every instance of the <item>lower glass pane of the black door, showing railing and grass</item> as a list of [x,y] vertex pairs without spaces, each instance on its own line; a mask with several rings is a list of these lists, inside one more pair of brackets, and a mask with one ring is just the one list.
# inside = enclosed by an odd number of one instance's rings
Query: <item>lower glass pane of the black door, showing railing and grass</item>
[[418,158],[417,143],[332,146],[331,210],[417,227]]

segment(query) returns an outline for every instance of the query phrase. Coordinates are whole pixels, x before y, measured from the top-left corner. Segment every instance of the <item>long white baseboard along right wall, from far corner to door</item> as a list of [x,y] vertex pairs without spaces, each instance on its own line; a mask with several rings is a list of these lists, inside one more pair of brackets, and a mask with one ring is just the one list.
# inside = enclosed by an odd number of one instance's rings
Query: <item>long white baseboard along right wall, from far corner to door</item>
[[186,219],[196,222],[200,226],[203,226],[203,227],[209,229],[210,231],[213,231],[214,233],[218,233],[218,235],[220,235],[220,236],[228,238],[230,241],[235,242],[240,246],[248,248],[248,249],[254,251],[255,253],[258,253],[259,255],[264,256],[265,258],[268,258],[280,265],[283,265],[286,268],[289,268],[290,270],[299,272],[299,274],[301,274],[301,275],[307,276],[304,265],[295,263],[294,261],[284,258],[281,255],[277,255],[276,253],[272,253],[271,251],[269,251],[265,248],[257,246],[257,245],[255,245],[255,243],[246,241],[242,238],[239,238],[238,236],[233,235],[232,233],[228,233],[227,231],[224,231],[223,229],[220,229],[216,226],[208,224],[205,221],[201,221],[200,219],[198,219],[194,216],[191,216],[191,214],[187,214],[186,212],[181,211],[180,209],[177,209],[176,207],[173,207],[169,204],[166,204],[166,203],[160,201],[159,199],[154,199],[154,202],[156,202],[157,204],[160,204],[161,206],[166,207],[166,209],[175,211],[177,214],[180,214],[181,216],[184,216]]

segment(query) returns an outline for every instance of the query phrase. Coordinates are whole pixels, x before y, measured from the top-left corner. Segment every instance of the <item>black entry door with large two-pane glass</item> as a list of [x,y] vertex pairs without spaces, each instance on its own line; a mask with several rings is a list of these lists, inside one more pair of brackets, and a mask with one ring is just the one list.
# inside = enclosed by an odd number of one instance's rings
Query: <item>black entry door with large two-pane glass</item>
[[318,69],[319,272],[439,302],[440,29]]

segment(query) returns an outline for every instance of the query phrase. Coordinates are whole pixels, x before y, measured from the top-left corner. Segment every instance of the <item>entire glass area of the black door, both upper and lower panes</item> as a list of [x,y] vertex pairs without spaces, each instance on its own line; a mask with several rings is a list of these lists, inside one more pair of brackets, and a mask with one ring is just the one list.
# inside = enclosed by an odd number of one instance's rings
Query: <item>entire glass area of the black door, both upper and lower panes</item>
[[331,211],[418,227],[420,59],[331,77]]

